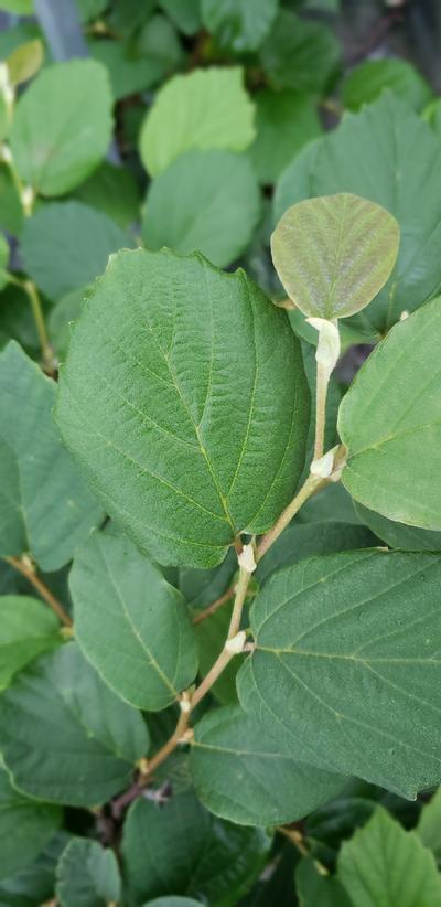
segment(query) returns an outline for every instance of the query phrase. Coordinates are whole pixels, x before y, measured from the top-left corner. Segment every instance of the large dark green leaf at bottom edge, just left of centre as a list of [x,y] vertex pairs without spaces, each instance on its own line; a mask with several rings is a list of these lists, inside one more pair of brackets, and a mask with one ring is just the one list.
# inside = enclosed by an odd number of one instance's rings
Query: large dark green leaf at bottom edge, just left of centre
[[193,791],[160,808],[140,798],[130,807],[121,844],[130,904],[173,893],[213,907],[226,898],[236,904],[262,868],[269,844],[261,829],[215,819]]

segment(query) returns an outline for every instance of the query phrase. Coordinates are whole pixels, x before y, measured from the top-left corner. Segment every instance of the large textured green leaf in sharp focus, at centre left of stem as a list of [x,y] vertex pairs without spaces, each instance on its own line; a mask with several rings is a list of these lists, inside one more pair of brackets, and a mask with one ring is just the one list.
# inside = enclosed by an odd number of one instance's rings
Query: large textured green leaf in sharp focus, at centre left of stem
[[244,271],[138,250],[112,258],[83,309],[57,418],[141,548],[212,567],[288,504],[308,408],[286,313]]

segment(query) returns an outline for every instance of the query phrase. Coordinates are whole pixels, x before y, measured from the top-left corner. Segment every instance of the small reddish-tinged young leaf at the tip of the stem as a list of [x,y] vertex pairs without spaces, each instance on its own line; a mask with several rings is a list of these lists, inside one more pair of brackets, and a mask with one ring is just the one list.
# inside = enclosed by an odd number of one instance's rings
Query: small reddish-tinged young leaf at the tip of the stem
[[346,192],[292,205],[271,236],[288,296],[303,314],[329,321],[368,306],[390,277],[398,246],[395,217]]

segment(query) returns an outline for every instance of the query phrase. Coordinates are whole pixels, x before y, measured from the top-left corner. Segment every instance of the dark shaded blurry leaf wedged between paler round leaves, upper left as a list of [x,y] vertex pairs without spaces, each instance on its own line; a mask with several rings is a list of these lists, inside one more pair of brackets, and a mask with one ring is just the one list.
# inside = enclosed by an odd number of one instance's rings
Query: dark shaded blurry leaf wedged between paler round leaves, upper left
[[138,184],[130,170],[105,161],[74,191],[75,199],[107,214],[121,227],[139,220]]

